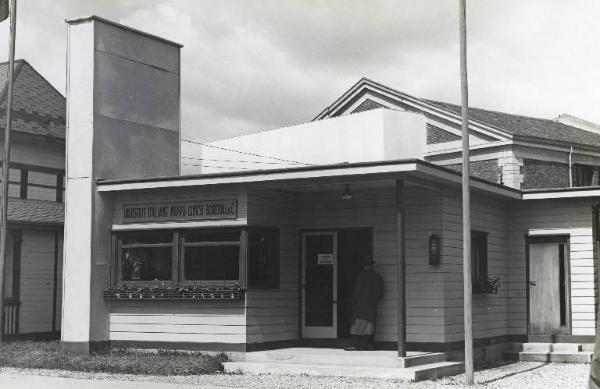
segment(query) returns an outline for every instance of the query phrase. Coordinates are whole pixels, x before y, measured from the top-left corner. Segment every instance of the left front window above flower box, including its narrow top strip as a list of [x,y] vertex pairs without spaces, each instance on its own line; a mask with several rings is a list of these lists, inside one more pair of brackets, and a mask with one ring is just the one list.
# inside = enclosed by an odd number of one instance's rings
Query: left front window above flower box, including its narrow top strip
[[127,234],[119,239],[121,281],[171,281],[175,234]]

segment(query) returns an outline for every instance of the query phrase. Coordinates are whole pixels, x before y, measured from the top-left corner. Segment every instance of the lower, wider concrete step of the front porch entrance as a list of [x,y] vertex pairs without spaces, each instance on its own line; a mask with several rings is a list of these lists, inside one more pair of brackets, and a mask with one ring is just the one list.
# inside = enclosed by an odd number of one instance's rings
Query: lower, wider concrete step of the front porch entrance
[[246,374],[307,374],[330,377],[387,378],[406,381],[420,381],[460,374],[464,371],[462,362],[435,362],[407,368],[373,366],[348,366],[334,364],[300,364],[278,362],[226,362],[228,373]]

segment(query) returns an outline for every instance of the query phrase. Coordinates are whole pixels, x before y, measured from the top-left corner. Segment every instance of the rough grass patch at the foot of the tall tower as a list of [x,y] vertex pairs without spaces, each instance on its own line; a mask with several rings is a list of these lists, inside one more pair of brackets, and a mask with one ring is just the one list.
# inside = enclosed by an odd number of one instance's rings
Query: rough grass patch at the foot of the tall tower
[[61,350],[58,341],[0,344],[0,366],[22,369],[60,369],[86,372],[196,375],[213,374],[228,360],[224,353],[209,355],[159,350],[156,353],[127,349],[79,355]]

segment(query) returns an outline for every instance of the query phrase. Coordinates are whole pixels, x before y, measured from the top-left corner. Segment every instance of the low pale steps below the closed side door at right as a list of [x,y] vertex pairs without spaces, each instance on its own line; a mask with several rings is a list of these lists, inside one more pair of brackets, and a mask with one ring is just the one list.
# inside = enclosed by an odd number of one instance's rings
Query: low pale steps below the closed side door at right
[[529,362],[591,363],[593,343],[513,343],[507,359]]

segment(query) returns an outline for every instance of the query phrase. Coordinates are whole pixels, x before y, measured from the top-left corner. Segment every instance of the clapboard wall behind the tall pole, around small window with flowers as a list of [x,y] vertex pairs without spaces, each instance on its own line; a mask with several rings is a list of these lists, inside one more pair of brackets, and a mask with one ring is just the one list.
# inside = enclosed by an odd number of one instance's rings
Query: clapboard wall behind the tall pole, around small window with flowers
[[[499,199],[473,194],[471,229],[488,234],[488,274],[499,277],[496,295],[473,295],[473,337],[506,335],[509,332],[509,292],[507,260],[507,205]],[[442,265],[444,279],[445,337],[447,342],[464,339],[462,202],[460,193],[446,191],[442,206]]]

